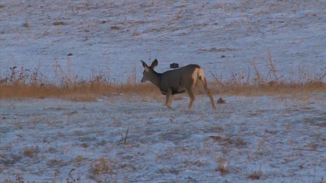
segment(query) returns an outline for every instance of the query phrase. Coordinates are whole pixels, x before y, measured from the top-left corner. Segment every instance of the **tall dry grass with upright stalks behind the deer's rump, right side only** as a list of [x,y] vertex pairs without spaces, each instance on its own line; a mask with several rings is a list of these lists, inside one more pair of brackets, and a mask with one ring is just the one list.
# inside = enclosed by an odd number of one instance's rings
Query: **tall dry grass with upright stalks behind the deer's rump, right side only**
[[[250,63],[252,69],[247,74],[231,72],[231,78],[224,79],[216,73],[212,74],[211,87],[224,95],[284,95],[307,92],[326,93],[326,73],[307,74],[299,69],[297,75],[293,72],[278,73],[270,51],[267,51],[266,66],[268,73],[263,76],[255,62]],[[252,72],[254,74],[252,74]],[[286,75],[288,77],[286,77]]]

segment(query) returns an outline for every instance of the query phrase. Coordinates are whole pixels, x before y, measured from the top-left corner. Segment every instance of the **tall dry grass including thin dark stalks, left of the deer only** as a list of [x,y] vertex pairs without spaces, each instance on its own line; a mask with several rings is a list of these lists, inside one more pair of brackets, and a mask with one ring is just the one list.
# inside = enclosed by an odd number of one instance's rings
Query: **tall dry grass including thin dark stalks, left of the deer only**
[[[68,65],[69,66],[69,65]],[[108,96],[118,94],[147,94],[155,91],[150,83],[137,82],[135,68],[126,83],[110,81],[106,72],[92,72],[88,79],[74,76],[71,70],[58,66],[55,70],[55,79],[49,80],[45,74],[34,69],[23,67],[9,68],[6,76],[0,76],[0,99],[8,98],[66,98],[78,97],[85,101],[92,101],[92,96]],[[157,89],[156,89],[157,90]]]

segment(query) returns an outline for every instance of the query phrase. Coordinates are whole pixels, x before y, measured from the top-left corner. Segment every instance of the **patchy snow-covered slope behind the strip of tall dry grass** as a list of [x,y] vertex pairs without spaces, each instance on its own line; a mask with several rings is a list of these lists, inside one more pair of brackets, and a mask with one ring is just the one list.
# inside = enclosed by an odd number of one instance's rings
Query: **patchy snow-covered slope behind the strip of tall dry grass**
[[125,81],[134,67],[141,70],[140,59],[157,58],[159,72],[177,62],[229,78],[231,70],[248,73],[253,61],[261,74],[268,73],[267,50],[280,76],[326,72],[325,1],[4,0],[0,5],[2,75],[23,66],[51,79],[59,64],[83,77],[110,70],[112,80]]

